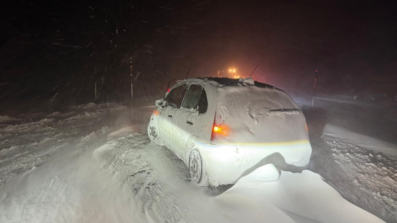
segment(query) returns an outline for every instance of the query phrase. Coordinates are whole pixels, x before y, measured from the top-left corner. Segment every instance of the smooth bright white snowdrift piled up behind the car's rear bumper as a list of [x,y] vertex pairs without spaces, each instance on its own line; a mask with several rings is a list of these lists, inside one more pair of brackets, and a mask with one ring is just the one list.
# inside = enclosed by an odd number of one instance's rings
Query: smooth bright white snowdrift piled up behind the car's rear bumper
[[241,178],[215,198],[220,207],[229,209],[230,219],[236,222],[247,222],[251,217],[254,221],[248,222],[383,222],[345,200],[317,173],[281,171],[279,179],[274,181],[276,174],[268,165]]

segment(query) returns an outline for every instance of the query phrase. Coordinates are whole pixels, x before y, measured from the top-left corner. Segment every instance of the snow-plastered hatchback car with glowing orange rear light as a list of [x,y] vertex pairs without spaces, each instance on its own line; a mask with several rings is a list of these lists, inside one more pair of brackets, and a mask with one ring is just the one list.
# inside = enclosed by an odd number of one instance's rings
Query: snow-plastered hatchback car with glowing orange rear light
[[156,100],[148,136],[172,150],[200,186],[232,184],[273,163],[306,169],[306,119],[283,90],[252,78],[191,78]]

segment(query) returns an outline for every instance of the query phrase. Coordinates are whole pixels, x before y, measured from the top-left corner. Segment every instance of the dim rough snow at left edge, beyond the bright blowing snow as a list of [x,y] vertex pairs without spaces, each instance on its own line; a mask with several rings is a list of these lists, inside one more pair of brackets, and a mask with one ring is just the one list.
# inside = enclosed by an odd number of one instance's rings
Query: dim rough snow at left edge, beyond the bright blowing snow
[[0,184],[17,173],[40,165],[71,140],[115,124],[118,116],[123,117],[120,114],[125,110],[125,106],[118,104],[90,103],[73,106],[69,112],[55,112],[38,120],[1,125]]

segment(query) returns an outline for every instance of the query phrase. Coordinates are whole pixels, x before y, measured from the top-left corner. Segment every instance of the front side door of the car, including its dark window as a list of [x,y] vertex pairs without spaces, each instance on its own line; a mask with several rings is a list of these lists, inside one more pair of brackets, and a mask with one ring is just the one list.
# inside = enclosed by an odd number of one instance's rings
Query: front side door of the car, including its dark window
[[158,126],[160,134],[162,134],[161,138],[163,143],[172,150],[175,146],[175,143],[173,143],[175,140],[174,132],[178,131],[178,128],[173,123],[173,119],[175,119],[175,113],[181,106],[186,87],[186,83],[183,83],[170,90],[164,99],[164,106],[159,108]]

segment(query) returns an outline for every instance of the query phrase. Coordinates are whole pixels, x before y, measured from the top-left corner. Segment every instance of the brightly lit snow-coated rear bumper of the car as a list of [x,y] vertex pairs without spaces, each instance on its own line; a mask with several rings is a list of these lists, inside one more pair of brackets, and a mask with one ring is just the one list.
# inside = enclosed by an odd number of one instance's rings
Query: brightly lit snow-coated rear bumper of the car
[[273,163],[284,171],[306,169],[312,148],[308,140],[276,143],[202,143],[198,146],[212,185],[236,183],[256,168]]

